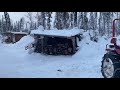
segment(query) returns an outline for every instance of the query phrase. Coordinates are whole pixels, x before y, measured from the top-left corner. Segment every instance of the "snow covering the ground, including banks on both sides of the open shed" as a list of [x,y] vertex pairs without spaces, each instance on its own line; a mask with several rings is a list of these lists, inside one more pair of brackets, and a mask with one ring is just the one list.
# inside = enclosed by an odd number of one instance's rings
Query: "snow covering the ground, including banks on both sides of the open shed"
[[25,46],[33,40],[27,35],[15,44],[0,43],[0,78],[103,78],[101,61],[110,39],[96,43],[84,32],[72,56],[29,54]]

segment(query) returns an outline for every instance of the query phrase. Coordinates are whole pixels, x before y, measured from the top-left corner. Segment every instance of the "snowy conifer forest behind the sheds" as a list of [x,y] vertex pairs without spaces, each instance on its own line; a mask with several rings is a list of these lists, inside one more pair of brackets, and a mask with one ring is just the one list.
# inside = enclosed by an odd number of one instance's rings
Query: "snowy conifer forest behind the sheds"
[[[26,21],[26,18],[28,21]],[[98,36],[111,37],[112,21],[115,18],[120,18],[120,12],[36,12],[36,15],[33,15],[33,12],[26,12],[25,17],[12,22],[9,13],[4,12],[0,19],[0,32],[30,32],[40,25],[45,30],[78,28],[83,29],[85,32],[89,31],[91,40],[96,41]],[[116,22],[116,27],[116,33],[119,35],[120,22]]]

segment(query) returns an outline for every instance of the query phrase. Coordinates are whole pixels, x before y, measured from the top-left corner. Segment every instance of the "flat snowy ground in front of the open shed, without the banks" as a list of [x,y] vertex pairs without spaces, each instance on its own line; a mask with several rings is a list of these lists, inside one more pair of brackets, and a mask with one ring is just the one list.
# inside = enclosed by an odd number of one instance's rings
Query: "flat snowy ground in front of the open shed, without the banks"
[[102,78],[102,55],[46,57],[4,44],[0,51],[0,78]]

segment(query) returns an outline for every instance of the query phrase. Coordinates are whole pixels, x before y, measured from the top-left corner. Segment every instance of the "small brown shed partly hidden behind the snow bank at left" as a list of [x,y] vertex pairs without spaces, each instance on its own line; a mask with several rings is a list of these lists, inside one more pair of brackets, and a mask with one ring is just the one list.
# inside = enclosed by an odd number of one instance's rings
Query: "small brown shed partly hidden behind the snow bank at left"
[[6,32],[6,33],[3,33],[4,42],[6,42],[6,43],[16,43],[23,36],[26,36],[26,35],[27,35],[27,33],[25,33],[25,32]]

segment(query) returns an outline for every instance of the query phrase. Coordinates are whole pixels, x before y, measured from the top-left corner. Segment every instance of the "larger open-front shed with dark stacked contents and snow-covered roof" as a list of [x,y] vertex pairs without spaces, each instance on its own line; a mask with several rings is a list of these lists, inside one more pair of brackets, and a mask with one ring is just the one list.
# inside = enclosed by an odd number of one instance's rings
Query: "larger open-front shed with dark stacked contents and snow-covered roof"
[[81,40],[79,30],[33,30],[36,39],[35,52],[49,55],[72,55],[78,50],[77,42]]

